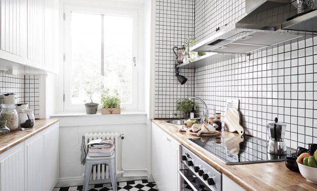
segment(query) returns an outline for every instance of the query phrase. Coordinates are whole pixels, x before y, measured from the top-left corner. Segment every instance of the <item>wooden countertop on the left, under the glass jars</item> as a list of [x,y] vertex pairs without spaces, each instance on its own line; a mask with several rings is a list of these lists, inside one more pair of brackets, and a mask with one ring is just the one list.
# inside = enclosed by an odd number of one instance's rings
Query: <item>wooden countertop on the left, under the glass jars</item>
[[23,142],[33,135],[43,131],[51,125],[57,123],[59,119],[40,119],[35,120],[35,127],[22,131],[21,129],[11,131],[9,134],[0,135],[0,153],[5,152],[11,147]]

